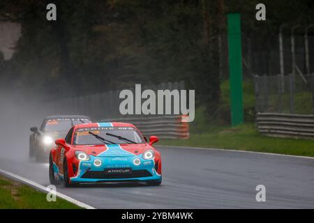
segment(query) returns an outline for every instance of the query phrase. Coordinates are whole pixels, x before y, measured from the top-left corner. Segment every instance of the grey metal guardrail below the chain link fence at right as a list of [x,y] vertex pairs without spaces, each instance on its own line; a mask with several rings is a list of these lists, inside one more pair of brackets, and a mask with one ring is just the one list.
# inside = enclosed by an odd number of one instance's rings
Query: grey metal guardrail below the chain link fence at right
[[314,116],[257,113],[257,128],[271,137],[314,139]]

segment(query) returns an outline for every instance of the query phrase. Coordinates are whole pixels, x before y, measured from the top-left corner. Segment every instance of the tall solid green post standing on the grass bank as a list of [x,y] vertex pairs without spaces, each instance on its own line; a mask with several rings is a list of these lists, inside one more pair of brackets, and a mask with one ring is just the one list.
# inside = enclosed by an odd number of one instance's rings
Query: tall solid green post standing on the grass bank
[[229,79],[231,99],[231,125],[243,123],[241,17],[239,13],[227,14]]

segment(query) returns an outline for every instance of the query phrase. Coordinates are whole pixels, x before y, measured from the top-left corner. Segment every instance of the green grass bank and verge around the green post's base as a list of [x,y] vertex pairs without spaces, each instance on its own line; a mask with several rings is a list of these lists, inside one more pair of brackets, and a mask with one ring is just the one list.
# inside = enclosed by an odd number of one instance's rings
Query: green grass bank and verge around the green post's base
[[[220,104],[216,116],[209,118],[204,106],[195,110],[195,120],[190,123],[190,139],[161,139],[160,144],[168,146],[195,146],[207,148],[225,148],[264,153],[280,153],[287,155],[304,155],[314,157],[314,141],[306,139],[283,139],[267,137],[260,134],[253,124],[255,121],[255,96],[253,82],[243,82],[244,117],[247,123],[236,128],[230,125],[230,89],[229,81],[220,84]],[[296,112],[310,114],[312,100],[309,93],[296,93]],[[269,103],[276,105],[277,95],[269,96]],[[289,107],[290,95],[283,95],[283,107]],[[310,112],[310,113],[309,113]]]

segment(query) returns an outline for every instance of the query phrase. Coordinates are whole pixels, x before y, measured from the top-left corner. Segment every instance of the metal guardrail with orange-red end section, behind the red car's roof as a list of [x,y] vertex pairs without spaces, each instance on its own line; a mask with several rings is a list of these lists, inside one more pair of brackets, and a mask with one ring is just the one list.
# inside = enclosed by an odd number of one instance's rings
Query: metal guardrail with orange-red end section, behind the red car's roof
[[105,118],[104,122],[132,123],[145,136],[156,135],[163,139],[188,139],[188,123],[181,122],[182,116],[149,116],[132,118]]

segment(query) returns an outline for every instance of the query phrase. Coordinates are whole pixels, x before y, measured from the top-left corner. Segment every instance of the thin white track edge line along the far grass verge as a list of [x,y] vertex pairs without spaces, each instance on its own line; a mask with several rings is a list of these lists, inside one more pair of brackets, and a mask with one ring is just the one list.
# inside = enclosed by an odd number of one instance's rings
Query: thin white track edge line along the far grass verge
[[305,158],[305,159],[314,159],[311,156],[302,156],[302,155],[287,155],[287,154],[280,154],[280,153],[263,153],[263,152],[254,152],[254,151],[241,151],[235,149],[227,149],[227,148],[207,148],[207,147],[194,147],[194,146],[166,146],[166,145],[159,145],[156,147],[170,147],[170,148],[191,148],[191,149],[202,149],[202,150],[209,150],[209,151],[230,151],[236,153],[256,153],[262,155],[280,155],[285,157],[297,157],[297,158]]

